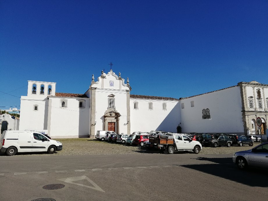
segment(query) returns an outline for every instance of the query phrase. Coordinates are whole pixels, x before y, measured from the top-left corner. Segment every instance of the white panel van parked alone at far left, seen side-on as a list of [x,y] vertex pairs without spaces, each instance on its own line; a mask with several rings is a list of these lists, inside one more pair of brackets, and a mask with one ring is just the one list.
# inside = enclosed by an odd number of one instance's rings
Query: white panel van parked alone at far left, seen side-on
[[17,152],[47,152],[54,154],[62,150],[59,141],[33,131],[3,131],[0,138],[0,151],[8,156]]

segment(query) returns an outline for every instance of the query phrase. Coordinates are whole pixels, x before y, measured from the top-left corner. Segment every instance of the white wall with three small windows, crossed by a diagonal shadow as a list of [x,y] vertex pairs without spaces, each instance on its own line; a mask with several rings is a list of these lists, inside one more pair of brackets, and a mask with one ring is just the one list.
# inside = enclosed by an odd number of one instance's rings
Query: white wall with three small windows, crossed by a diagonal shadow
[[[138,109],[134,109],[134,102],[138,102]],[[149,109],[149,102],[153,104],[152,110]],[[166,103],[166,110],[163,110],[163,103]],[[180,105],[178,101],[131,98],[130,122],[131,133],[151,130],[177,132],[180,123]]]

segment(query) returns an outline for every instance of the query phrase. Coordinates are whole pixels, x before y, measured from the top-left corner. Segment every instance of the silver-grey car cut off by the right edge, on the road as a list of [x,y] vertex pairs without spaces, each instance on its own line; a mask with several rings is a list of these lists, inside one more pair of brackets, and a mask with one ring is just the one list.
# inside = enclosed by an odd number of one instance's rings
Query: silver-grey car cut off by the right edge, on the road
[[239,169],[246,169],[248,166],[268,169],[268,142],[251,150],[236,152],[232,161]]

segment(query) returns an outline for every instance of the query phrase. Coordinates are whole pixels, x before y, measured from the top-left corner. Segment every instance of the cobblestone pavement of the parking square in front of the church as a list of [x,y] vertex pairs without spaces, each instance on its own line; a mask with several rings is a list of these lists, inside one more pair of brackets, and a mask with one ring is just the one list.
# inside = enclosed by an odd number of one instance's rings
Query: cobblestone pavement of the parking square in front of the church
[[[18,153],[16,156],[69,156],[69,155],[109,155],[109,154],[159,154],[158,150],[144,147],[122,145],[117,143],[102,142],[90,138],[55,139],[63,144],[63,150],[55,154],[47,153]],[[260,143],[254,143],[253,147]],[[233,154],[238,151],[250,150],[253,147],[244,145],[239,147],[203,147],[200,154]],[[193,154],[191,151],[180,151],[176,154]],[[3,155],[3,154],[2,154]]]

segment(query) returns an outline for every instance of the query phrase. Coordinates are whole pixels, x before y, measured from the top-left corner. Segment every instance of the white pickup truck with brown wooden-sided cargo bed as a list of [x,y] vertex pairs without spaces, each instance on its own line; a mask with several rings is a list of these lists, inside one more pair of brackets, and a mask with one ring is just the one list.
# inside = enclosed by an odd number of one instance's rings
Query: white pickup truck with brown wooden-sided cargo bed
[[149,142],[157,144],[160,152],[167,151],[169,154],[173,154],[176,150],[193,151],[198,154],[202,149],[200,142],[180,133],[160,134],[157,137],[150,137]]

